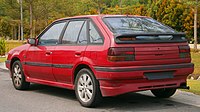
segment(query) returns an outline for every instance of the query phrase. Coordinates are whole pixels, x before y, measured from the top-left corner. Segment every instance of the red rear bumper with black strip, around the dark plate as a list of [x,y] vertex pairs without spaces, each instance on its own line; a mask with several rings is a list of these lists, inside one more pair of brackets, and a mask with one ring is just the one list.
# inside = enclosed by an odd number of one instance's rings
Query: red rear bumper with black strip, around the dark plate
[[[94,67],[103,96],[116,96],[133,91],[159,88],[177,88],[186,83],[194,70],[194,64],[170,64],[128,67]],[[149,80],[145,73],[173,71],[173,78]],[[160,74],[162,75],[162,74]]]

